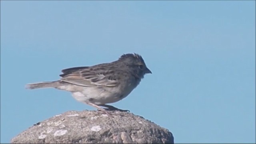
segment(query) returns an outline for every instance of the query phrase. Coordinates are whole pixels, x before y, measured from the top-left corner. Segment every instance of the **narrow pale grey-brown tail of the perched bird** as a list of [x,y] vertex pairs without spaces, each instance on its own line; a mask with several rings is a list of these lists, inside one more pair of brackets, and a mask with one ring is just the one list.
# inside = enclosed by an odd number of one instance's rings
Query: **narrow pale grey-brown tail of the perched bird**
[[34,84],[27,84],[27,89],[36,89],[36,88],[55,88],[60,85],[60,81],[53,81],[53,82],[38,82]]

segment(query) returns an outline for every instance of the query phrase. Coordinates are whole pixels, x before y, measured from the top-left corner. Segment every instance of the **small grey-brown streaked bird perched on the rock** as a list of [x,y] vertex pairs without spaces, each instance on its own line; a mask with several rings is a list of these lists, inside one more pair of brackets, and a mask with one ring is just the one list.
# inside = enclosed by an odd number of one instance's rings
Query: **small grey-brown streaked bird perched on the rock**
[[60,80],[26,84],[26,88],[65,90],[71,92],[78,102],[110,115],[108,110],[122,110],[108,104],[128,96],[140,84],[145,74],[152,72],[142,56],[129,53],[123,54],[114,62],[63,69]]

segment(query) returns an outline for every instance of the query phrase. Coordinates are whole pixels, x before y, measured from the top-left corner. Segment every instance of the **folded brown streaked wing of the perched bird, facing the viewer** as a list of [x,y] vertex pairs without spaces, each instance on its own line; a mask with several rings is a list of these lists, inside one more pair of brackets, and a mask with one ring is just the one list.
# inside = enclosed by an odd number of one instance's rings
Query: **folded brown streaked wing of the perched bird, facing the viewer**
[[114,87],[119,84],[114,71],[103,66],[68,68],[62,72],[62,81],[79,86]]

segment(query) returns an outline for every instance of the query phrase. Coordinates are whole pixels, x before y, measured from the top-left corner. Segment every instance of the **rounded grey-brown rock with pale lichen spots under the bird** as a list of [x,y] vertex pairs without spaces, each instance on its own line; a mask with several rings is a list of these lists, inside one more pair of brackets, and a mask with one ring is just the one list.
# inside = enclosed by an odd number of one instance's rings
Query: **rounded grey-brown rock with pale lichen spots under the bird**
[[11,143],[174,143],[165,128],[130,112],[68,111],[38,122]]

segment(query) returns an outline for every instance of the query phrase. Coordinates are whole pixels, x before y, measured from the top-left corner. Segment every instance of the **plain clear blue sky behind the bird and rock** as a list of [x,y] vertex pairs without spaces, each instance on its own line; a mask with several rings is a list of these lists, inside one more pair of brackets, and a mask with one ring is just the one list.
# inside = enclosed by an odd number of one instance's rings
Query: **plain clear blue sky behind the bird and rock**
[[69,110],[61,70],[136,52],[153,74],[112,104],[175,143],[255,143],[255,1],[1,1],[1,143]]

